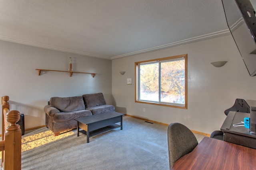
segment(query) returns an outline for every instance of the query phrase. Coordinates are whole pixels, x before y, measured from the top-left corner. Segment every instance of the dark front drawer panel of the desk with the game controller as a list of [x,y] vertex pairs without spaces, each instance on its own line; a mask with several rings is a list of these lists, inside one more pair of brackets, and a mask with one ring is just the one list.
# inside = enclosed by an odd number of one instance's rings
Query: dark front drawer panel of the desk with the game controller
[[256,149],[256,139],[224,132],[224,141]]

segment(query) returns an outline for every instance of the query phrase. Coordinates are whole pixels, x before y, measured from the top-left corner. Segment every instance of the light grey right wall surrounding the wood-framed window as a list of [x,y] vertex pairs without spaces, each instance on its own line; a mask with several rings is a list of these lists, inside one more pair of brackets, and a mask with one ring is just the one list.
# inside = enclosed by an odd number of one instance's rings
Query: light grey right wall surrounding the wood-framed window
[[[188,54],[188,109],[135,103],[134,62],[181,54]],[[216,68],[210,64],[215,61],[228,63]],[[133,84],[127,85],[126,78],[132,78]],[[255,84],[256,77],[249,76],[231,35],[112,61],[117,111],[167,124],[180,122],[208,134],[220,129],[226,118],[224,110],[236,98],[256,100]]]

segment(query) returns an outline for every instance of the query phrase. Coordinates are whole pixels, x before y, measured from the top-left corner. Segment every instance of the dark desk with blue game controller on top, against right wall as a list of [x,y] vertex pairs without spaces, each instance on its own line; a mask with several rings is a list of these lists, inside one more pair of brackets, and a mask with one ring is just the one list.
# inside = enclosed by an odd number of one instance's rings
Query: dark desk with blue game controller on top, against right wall
[[230,111],[220,128],[224,133],[224,141],[256,149],[256,135],[250,133],[244,126],[233,126],[250,117],[250,113]]

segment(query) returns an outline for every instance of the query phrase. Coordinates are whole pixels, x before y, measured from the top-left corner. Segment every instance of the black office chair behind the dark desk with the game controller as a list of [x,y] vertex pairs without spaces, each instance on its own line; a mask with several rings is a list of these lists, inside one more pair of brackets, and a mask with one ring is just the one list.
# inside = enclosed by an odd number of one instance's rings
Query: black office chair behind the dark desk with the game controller
[[[228,115],[230,111],[250,113],[250,106],[244,99],[236,99],[234,105],[224,111],[225,115]],[[213,131],[210,137],[224,141],[222,131]]]

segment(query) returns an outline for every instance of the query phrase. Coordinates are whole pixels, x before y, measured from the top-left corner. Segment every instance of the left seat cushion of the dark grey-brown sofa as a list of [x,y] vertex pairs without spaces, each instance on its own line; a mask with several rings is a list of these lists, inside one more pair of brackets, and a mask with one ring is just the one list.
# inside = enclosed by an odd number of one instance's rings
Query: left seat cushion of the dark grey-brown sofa
[[79,111],[73,111],[73,112],[61,112],[61,113],[55,113],[53,115],[53,121],[54,122],[63,122],[63,121],[69,121],[72,119],[76,119],[79,117],[85,117],[92,115],[92,112],[90,110],[79,110]]

